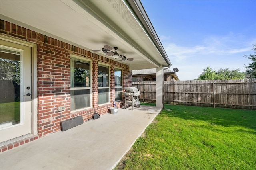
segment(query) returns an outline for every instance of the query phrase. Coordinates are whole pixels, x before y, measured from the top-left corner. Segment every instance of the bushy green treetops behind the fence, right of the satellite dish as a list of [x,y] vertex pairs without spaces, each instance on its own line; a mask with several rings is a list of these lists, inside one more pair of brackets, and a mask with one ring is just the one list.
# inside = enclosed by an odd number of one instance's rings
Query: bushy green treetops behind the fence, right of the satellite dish
[[196,80],[235,80],[244,79],[245,73],[239,72],[239,69],[229,70],[220,68],[217,72],[209,66],[203,70],[202,74]]

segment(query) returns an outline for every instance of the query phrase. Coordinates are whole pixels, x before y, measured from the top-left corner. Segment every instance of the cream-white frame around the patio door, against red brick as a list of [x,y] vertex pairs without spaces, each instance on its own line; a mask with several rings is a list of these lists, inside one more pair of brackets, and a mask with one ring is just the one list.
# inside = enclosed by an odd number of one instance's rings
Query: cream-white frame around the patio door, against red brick
[[4,34],[0,34],[0,41],[9,41],[12,43],[24,45],[31,48],[31,88],[32,88],[32,94],[31,94],[31,102],[32,102],[32,135],[37,135],[37,44],[24,41],[22,39],[10,37]]

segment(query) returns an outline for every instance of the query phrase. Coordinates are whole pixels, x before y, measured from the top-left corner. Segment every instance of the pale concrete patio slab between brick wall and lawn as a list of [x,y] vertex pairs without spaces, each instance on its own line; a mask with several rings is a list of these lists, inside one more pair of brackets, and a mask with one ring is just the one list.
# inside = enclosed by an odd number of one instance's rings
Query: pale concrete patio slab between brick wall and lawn
[[0,153],[1,170],[110,170],[161,109],[118,109],[67,131]]

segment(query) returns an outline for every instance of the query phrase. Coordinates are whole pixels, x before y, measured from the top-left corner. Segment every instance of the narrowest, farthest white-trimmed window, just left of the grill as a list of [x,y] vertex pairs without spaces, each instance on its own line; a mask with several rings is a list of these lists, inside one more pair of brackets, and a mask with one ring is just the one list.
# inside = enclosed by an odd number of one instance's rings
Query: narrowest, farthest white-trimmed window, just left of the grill
[[122,100],[122,70],[115,68],[115,101]]

